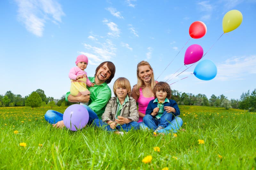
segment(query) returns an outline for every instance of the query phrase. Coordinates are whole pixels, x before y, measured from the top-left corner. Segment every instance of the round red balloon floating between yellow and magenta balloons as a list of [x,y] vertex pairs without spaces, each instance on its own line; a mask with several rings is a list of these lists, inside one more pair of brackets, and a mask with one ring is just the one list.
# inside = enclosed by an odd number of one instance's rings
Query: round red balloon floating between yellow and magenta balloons
[[189,35],[193,39],[200,39],[206,34],[206,25],[201,21],[193,22],[189,27]]

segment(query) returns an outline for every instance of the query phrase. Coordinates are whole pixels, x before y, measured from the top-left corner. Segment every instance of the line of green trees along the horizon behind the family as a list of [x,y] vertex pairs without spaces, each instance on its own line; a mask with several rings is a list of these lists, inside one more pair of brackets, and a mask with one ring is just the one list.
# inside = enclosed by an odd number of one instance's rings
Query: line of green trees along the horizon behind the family
[[[256,110],[256,89],[252,92],[250,92],[250,90],[243,92],[239,100],[228,100],[224,95],[212,95],[211,98],[208,99],[203,94],[194,95],[192,93],[182,93],[177,90],[172,90],[172,99],[179,105],[214,106],[224,107],[226,109],[245,109],[249,111]],[[25,97],[15,95],[12,91],[7,91],[4,95],[0,95],[0,107],[29,106],[33,109],[35,107],[44,107],[46,105],[54,107],[55,105],[68,106],[71,104],[72,103],[65,100],[65,95],[60,99],[54,99],[53,97],[47,97],[42,89],[37,89],[29,96]]]

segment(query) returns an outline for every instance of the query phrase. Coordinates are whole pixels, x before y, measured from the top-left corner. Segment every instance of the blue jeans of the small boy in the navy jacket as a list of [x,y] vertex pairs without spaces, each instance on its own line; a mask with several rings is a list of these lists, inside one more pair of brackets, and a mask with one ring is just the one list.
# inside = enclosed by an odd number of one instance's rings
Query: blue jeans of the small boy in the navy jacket
[[164,111],[163,115],[159,119],[155,119],[149,114],[145,115],[143,117],[143,122],[148,126],[149,129],[156,130],[159,126],[166,128],[172,121],[172,117],[172,113],[167,113],[167,111]]

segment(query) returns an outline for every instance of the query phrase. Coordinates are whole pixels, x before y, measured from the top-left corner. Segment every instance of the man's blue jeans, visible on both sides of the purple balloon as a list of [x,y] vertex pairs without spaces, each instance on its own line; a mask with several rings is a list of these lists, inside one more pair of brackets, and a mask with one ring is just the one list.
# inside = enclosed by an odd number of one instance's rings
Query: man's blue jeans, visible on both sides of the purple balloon
[[[83,105],[89,113],[89,121],[88,124],[92,124],[94,119],[98,119],[97,114],[89,108],[87,105]],[[47,110],[47,112],[44,115],[44,119],[50,123],[50,124],[56,124],[57,122],[63,120],[63,114],[60,112],[57,112],[55,110]]]

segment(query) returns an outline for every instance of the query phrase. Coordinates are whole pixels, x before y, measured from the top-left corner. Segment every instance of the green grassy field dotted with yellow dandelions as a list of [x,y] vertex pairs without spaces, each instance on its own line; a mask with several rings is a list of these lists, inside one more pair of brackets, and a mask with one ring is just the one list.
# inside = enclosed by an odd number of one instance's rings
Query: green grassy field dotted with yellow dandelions
[[0,107],[0,169],[255,169],[256,113],[179,107],[184,131],[165,136],[72,132],[44,120],[50,108]]

